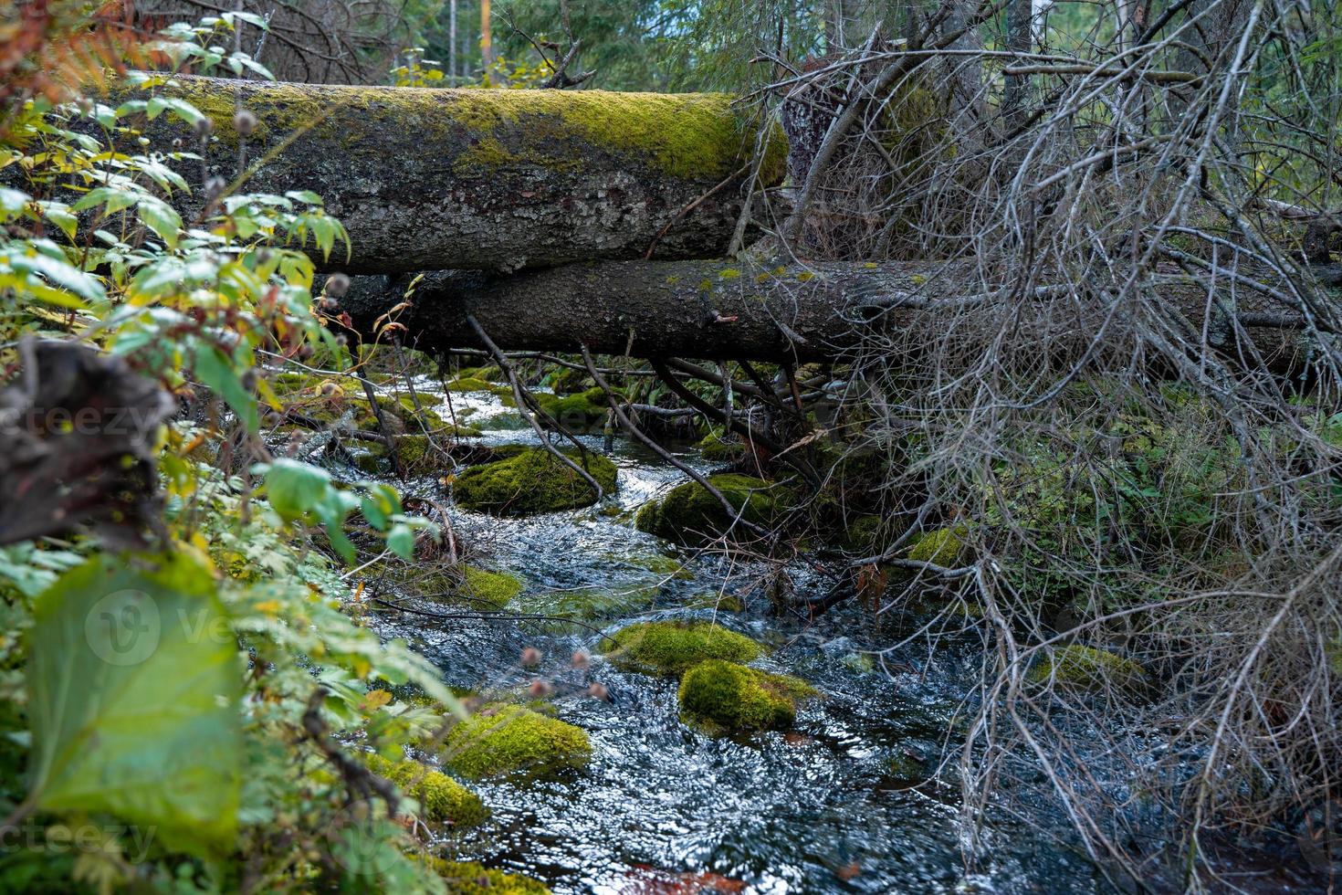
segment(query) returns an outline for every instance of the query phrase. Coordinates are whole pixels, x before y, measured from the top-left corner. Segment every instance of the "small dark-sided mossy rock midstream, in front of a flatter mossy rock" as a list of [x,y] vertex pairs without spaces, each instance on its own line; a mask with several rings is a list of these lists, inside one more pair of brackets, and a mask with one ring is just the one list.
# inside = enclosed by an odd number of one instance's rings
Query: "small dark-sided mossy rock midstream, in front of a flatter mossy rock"
[[684,672],[676,695],[686,723],[717,733],[790,727],[797,700],[815,692],[796,678],[709,659]]

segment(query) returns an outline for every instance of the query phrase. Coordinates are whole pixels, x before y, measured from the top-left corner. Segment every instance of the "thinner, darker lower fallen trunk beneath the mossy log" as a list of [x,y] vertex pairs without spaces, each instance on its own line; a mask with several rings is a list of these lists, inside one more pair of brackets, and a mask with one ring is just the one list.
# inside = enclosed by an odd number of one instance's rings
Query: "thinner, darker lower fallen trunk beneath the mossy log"
[[[840,358],[882,335],[913,361],[921,345],[949,327],[997,325],[996,317],[1040,327],[1040,350],[1064,357],[1086,348],[1108,311],[1068,286],[1036,290],[1028,301],[1009,288],[966,295],[972,272],[972,262],[939,271],[856,262],[605,262],[510,276],[427,274],[408,298],[408,276],[354,278],[342,309],[354,330],[372,337],[378,317],[408,301],[392,315],[401,325],[396,331],[404,344],[428,352],[482,348],[470,315],[506,350],[578,352],[585,345],[599,354],[798,362]],[[1162,287],[1159,301],[1182,314],[1188,338],[1198,335],[1208,307],[1201,287]],[[1057,313],[1059,303],[1066,314]],[[1249,335],[1267,366],[1298,365],[1299,315],[1249,305],[1240,297],[1240,335]],[[1236,327],[1219,323],[1223,318],[1213,310],[1212,329],[1225,333],[1213,334],[1217,348],[1248,350]]]

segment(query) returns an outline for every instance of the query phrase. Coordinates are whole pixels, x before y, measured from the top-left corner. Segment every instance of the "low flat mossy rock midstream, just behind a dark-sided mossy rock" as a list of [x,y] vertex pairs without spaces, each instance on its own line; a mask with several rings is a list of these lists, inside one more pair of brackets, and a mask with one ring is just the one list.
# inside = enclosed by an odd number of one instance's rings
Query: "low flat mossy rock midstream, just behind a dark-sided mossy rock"
[[616,666],[666,678],[705,659],[750,662],[762,652],[750,637],[707,621],[639,621],[603,643]]

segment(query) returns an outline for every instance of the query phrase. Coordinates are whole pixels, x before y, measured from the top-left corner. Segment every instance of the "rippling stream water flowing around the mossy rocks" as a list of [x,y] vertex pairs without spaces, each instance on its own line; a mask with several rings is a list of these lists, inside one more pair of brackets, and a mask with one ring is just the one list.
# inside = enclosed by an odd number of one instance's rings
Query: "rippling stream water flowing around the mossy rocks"
[[[537,443],[515,417],[494,428],[509,419],[495,399],[452,397],[458,409],[476,408],[470,421],[486,428],[486,443]],[[600,437],[585,440],[601,448]],[[866,621],[855,612],[836,609],[815,624],[781,617],[756,586],[761,568],[695,557],[635,530],[633,511],[684,476],[625,440],[611,456],[620,487],[601,506],[452,518],[479,565],[526,582],[521,608],[586,616],[592,629],[401,613],[378,621],[454,687],[506,691],[548,678],[557,715],[590,735],[593,758],[581,774],[475,785],[493,819],[455,843],[460,857],[525,872],[556,892],[1103,891],[1043,798],[1037,819],[989,817],[989,847],[968,872],[954,757],[942,784],[896,773],[910,761],[934,766],[956,749],[972,649],[887,656],[886,674],[862,652]],[[692,451],[683,459],[710,468]],[[801,596],[823,592],[805,568],[790,572]],[[719,596],[741,598],[745,611],[717,611]],[[824,698],[808,700],[788,733],[696,733],[678,718],[675,682],[621,672],[599,655],[600,631],[659,617],[713,617],[750,635],[773,648],[761,667],[804,678]],[[525,647],[544,652],[539,668],[519,668]],[[576,651],[593,656],[586,667],[573,666]],[[588,696],[590,682],[609,698]]]

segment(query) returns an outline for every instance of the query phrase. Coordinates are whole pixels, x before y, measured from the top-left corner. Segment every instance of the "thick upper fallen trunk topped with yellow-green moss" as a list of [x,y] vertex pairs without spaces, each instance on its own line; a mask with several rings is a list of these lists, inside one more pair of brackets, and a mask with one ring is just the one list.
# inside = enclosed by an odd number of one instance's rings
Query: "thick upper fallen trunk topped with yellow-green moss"
[[[197,181],[232,181],[242,161],[255,166],[246,191],[318,191],[353,242],[348,263],[341,251],[327,267],[350,272],[514,271],[643,258],[654,243],[658,258],[721,255],[756,144],[722,94],[216,78],[158,90],[189,101],[213,131],[201,141],[158,115],[145,123],[152,150],[203,148]],[[114,101],[146,98],[126,91]],[[761,169],[765,182],[781,177],[784,154],[780,136]],[[199,187],[176,197],[188,220],[200,212]]]

